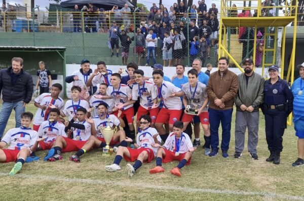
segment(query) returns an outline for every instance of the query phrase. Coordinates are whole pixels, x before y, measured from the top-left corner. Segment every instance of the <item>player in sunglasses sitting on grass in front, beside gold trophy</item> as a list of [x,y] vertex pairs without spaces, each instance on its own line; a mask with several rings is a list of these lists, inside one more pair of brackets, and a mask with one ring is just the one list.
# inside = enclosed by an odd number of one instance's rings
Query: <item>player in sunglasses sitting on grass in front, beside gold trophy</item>
[[119,146],[113,164],[105,166],[106,171],[115,172],[120,170],[121,167],[119,164],[124,157],[126,161],[135,161],[133,166],[129,163],[126,166],[128,175],[132,177],[143,162],[149,163],[155,158],[157,148],[152,147],[151,145],[154,143],[160,144],[162,139],[158,135],[157,130],[150,127],[150,124],[151,118],[148,115],[140,117],[140,126],[142,130],[137,134],[136,143],[134,143],[136,149]]

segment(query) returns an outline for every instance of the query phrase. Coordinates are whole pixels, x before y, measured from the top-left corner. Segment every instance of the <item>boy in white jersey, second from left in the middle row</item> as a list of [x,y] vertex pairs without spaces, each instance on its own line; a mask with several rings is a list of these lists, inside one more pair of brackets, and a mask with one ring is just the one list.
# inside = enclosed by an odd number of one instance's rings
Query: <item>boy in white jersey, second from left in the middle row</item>
[[[90,106],[86,100],[80,99],[81,88],[79,86],[72,86],[71,88],[71,100],[67,100],[64,105],[63,111],[60,112],[62,117],[68,116],[68,120],[71,121],[76,115],[76,111],[79,108],[84,108],[87,111],[90,111]],[[88,112],[87,116],[90,117]]]

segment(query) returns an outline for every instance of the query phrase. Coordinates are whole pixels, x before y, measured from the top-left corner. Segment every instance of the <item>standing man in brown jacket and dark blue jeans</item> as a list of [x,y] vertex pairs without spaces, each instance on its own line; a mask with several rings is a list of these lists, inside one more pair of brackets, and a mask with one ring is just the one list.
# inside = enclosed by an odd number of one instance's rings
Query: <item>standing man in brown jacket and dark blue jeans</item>
[[238,92],[238,76],[228,70],[229,61],[226,57],[218,60],[218,71],[210,75],[207,86],[209,103],[209,121],[211,131],[211,153],[215,157],[218,152],[218,127],[222,126],[221,150],[222,156],[228,158],[227,153],[230,142],[230,130],[234,97]]

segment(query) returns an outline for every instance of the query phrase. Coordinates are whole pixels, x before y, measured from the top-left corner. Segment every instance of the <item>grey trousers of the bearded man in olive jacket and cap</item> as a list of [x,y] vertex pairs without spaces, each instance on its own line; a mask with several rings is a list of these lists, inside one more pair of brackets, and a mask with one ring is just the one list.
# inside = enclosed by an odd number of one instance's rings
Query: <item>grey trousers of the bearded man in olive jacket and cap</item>
[[240,112],[236,114],[236,152],[243,152],[245,143],[245,132],[248,127],[248,152],[256,154],[258,142],[259,112]]

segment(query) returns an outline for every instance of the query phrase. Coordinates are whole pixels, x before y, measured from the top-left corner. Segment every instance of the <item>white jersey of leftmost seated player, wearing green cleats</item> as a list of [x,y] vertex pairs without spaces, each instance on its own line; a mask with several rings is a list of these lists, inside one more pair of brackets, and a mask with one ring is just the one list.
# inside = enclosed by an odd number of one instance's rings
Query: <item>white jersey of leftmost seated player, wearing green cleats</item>
[[1,141],[9,144],[7,149],[21,150],[22,148],[30,148],[37,140],[38,133],[31,128],[23,126],[10,129]]

